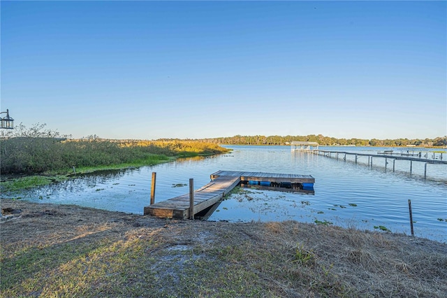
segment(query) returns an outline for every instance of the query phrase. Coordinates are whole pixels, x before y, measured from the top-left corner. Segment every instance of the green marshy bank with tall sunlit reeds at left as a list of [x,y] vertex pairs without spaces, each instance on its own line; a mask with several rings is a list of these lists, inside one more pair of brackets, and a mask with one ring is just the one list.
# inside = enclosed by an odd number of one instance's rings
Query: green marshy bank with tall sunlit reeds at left
[[2,190],[17,190],[52,183],[73,173],[147,166],[177,157],[227,151],[216,144],[198,141],[3,139],[0,149],[1,187]]

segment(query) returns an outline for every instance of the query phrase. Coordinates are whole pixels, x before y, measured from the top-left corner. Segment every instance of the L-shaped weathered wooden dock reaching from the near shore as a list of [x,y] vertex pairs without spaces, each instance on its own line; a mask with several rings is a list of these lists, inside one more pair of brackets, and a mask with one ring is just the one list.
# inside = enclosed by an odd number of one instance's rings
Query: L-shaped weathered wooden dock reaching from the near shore
[[[193,211],[191,214],[191,194],[145,206],[145,215],[160,218],[191,218],[191,215],[205,214],[212,210],[237,185],[256,186],[267,190],[286,190],[314,193],[315,178],[310,175],[287,173],[260,173],[247,171],[217,171],[210,175],[211,182],[193,191]],[[212,211],[211,211],[212,212]]]

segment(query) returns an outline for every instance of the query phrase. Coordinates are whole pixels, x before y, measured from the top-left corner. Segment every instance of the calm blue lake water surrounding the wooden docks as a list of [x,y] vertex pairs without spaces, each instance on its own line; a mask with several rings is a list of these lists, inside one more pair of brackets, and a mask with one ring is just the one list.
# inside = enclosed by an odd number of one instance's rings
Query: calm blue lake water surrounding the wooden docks
[[[315,178],[314,194],[247,189],[221,202],[209,220],[325,222],[342,227],[411,234],[408,200],[411,199],[416,236],[447,242],[447,166],[393,162],[348,155],[339,159],[291,152],[288,146],[226,146],[233,152],[214,157],[179,159],[158,166],[142,166],[108,173],[80,176],[57,185],[38,187],[20,197],[29,201],[76,204],[142,214],[149,205],[152,172],[156,172],[155,201],[164,201],[210,182],[218,170],[298,173]],[[390,148],[320,147],[376,154]],[[397,150],[397,149],[395,149]],[[444,154],[444,159],[447,155]],[[8,197],[8,194],[2,194]],[[11,196],[9,196],[11,197]],[[17,197],[17,194],[15,194]]]

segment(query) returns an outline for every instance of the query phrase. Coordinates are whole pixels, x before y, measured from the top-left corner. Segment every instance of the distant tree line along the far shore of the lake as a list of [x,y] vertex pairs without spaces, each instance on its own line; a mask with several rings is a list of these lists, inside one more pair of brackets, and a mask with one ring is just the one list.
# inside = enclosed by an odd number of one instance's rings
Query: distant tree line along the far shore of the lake
[[209,143],[223,145],[288,145],[292,141],[316,142],[322,146],[447,146],[447,136],[436,139],[337,139],[322,134],[309,134],[307,136],[228,136],[222,138],[200,139]]

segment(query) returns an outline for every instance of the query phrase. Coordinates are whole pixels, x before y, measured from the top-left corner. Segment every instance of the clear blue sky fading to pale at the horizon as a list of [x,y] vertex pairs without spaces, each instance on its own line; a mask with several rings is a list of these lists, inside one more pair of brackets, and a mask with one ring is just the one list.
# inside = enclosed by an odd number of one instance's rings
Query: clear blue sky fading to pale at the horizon
[[1,111],[74,137],[447,134],[446,1],[1,1]]

